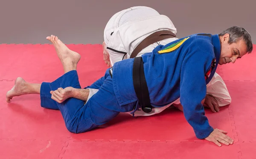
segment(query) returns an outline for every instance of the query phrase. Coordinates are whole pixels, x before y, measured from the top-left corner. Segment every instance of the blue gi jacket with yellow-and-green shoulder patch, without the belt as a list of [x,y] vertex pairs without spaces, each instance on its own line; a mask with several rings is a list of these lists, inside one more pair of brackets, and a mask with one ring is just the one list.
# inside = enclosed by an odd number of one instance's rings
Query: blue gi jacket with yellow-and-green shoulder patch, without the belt
[[[180,97],[186,120],[199,139],[213,131],[201,101],[206,85],[214,75],[220,58],[218,34],[193,34],[142,55],[145,79],[154,107],[165,106]],[[113,65],[113,88],[120,106],[134,102],[133,59]]]

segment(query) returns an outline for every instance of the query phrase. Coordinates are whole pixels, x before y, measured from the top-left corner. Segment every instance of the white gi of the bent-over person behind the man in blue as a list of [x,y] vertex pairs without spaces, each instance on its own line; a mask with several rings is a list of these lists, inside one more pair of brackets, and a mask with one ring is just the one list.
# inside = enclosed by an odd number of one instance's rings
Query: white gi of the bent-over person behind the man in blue
[[[105,51],[109,53],[111,65],[123,59],[128,59],[136,46],[148,35],[161,30],[169,30],[177,33],[169,17],[159,14],[156,10],[136,6],[119,11],[108,21],[104,30]],[[166,45],[178,38],[168,38],[144,48],[137,57],[151,52],[157,45]],[[89,89],[90,94],[87,100],[97,92],[95,89]],[[219,106],[230,104],[231,97],[227,87],[221,77],[215,73],[212,80],[207,85],[207,94],[212,95],[218,101]],[[150,116],[158,114],[172,104],[180,104],[180,99],[161,108],[153,108],[150,113],[136,111],[134,116]],[[130,112],[127,112],[130,113]]]

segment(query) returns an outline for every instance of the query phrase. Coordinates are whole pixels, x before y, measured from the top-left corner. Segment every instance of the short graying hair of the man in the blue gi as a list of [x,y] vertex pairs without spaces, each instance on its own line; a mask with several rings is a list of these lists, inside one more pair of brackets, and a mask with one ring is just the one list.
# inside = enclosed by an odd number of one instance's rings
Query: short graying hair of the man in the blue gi
[[250,54],[253,51],[253,42],[251,39],[250,34],[247,30],[240,26],[233,26],[226,30],[224,30],[219,36],[224,36],[225,34],[229,34],[230,38],[228,41],[228,44],[236,43],[239,40],[243,39],[246,46],[247,46],[247,52]]

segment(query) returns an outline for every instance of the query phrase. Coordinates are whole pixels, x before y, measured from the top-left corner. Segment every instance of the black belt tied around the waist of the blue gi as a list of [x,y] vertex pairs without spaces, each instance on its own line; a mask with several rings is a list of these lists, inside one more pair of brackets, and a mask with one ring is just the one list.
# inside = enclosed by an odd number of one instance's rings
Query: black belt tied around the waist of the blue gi
[[150,103],[148,85],[145,79],[142,57],[134,58],[132,76],[134,90],[137,95],[137,98],[139,99],[141,109],[145,113],[150,113],[152,111],[152,106]]

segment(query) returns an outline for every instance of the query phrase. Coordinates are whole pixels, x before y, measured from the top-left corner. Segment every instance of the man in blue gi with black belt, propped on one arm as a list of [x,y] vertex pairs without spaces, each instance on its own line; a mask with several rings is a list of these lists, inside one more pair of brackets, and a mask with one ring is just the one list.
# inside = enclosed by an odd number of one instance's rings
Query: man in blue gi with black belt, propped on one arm
[[[17,78],[12,95],[6,95],[7,102],[14,96],[40,93],[42,107],[59,109],[67,129],[83,133],[105,124],[120,112],[139,108],[150,112],[152,107],[162,107],[180,98],[184,116],[198,139],[219,146],[233,144],[227,132],[209,125],[201,101],[218,64],[234,63],[252,52],[251,37],[244,28],[235,26],[215,35],[193,34],[159,45],[142,57],[116,62],[90,86],[99,91],[85,105],[83,100],[73,98],[79,95],[72,91],[81,88],[76,72],[80,55],[68,49],[58,37],[47,39],[55,46],[65,74],[42,84],[28,85]],[[70,98],[59,102],[63,94]],[[81,91],[80,96],[83,95]]]

